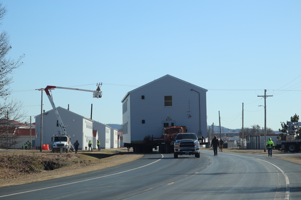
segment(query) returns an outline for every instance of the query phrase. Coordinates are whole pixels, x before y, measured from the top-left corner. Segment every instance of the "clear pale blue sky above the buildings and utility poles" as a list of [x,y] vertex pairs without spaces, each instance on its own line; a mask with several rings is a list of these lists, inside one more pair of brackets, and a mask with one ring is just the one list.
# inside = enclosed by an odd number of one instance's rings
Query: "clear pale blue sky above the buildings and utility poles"
[[[47,85],[54,103],[104,124],[122,124],[128,91],[170,74],[208,90],[207,123],[267,127],[300,112],[301,1],[21,1],[3,0],[13,74],[11,98],[26,116],[41,112]],[[43,109],[51,104],[43,94]],[[28,117],[29,119],[29,117]],[[32,119],[34,121],[34,118]],[[66,124],[65,124],[66,125]]]

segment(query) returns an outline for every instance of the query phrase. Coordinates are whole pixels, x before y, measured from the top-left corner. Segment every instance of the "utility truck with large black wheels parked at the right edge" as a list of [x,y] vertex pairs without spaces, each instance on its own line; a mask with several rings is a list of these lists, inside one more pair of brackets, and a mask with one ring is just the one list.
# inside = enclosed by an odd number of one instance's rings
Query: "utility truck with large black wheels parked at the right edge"
[[276,142],[276,148],[289,152],[299,152],[301,151],[301,139],[299,134],[296,133],[298,129],[301,129],[301,122],[282,122],[286,135],[284,138],[279,138]]

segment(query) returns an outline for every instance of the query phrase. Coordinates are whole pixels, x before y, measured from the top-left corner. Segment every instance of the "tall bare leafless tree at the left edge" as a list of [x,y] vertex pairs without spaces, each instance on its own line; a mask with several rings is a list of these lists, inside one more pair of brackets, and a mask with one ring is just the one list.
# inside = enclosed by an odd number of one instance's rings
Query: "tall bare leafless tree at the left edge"
[[[7,10],[0,2],[0,26]],[[3,30],[0,34],[0,148],[6,148],[18,142],[17,137],[13,134],[13,130],[18,124],[12,122],[20,122],[24,120],[24,113],[21,113],[22,102],[19,100],[8,100],[11,94],[10,84],[13,82],[14,70],[23,65],[21,61],[25,54],[21,55],[17,60],[8,56],[11,50],[9,34]],[[14,126],[12,126],[14,125]]]

